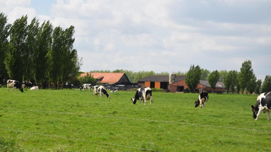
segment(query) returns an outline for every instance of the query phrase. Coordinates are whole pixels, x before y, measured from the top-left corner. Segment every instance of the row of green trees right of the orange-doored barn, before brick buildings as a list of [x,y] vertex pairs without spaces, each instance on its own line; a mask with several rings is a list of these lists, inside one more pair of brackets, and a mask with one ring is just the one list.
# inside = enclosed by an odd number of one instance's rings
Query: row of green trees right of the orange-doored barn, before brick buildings
[[246,60],[242,63],[240,72],[237,72],[236,70],[228,72],[226,70],[221,70],[220,72],[215,70],[210,72],[206,69],[200,69],[199,65],[191,65],[187,72],[185,83],[189,90],[193,92],[197,88],[200,79],[204,78],[208,79],[208,83],[213,92],[218,81],[223,81],[227,93],[229,90],[231,90],[231,93],[236,91],[238,94],[240,91],[243,94],[244,90],[246,90],[247,94],[252,94],[253,92],[259,94],[260,92],[271,91],[271,76],[267,75],[263,82],[263,86],[261,86],[262,80],[257,80],[253,72],[251,60]]

